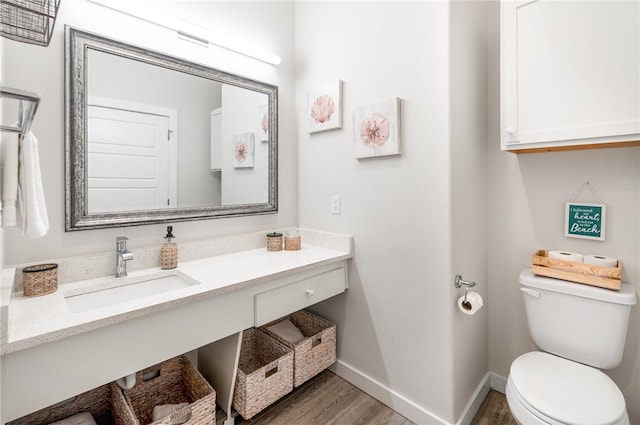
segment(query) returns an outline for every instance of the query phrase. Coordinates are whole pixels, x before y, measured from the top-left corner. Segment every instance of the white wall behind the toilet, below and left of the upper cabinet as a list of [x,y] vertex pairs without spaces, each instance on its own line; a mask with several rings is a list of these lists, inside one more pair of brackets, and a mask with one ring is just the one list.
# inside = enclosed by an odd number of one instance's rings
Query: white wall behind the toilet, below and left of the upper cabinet
[[[511,362],[535,349],[518,274],[538,249],[601,253],[622,261],[623,280],[640,289],[640,148],[516,155],[499,150],[499,6],[490,4],[489,52],[489,368],[506,377]],[[564,203],[589,181],[607,205],[606,240],[565,238]],[[588,190],[587,190],[588,192]],[[594,201],[590,193],[583,194]],[[640,423],[640,308],[631,313],[622,364],[609,375],[622,390],[631,423]]]

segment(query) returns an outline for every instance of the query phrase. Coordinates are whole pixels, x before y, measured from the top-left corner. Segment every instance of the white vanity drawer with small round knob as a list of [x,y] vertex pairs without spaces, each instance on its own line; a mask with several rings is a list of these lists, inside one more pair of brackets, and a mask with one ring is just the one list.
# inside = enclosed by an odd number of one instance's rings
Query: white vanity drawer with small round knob
[[344,267],[339,267],[255,296],[255,326],[262,326],[294,311],[344,292]]

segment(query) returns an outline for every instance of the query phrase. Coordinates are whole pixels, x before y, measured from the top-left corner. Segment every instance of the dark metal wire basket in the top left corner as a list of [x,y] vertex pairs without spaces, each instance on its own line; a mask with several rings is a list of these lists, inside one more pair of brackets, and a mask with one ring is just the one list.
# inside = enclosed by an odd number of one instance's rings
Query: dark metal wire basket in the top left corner
[[0,0],[0,35],[48,46],[60,0]]

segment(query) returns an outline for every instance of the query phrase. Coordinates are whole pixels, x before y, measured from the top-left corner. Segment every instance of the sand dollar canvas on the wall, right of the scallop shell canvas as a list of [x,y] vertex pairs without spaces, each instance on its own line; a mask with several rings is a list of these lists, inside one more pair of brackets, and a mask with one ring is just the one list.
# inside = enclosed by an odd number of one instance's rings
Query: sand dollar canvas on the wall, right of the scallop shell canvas
[[353,129],[356,158],[399,155],[400,99],[389,99],[356,109]]

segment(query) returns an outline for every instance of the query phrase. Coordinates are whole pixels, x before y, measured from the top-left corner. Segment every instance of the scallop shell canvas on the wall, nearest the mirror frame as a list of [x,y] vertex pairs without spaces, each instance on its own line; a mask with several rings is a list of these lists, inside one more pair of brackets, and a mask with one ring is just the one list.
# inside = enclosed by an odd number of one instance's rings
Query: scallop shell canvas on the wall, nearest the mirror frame
[[342,128],[342,81],[309,90],[307,103],[309,133]]

